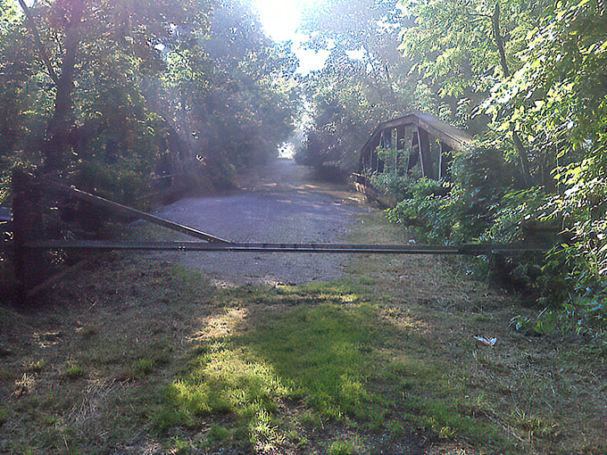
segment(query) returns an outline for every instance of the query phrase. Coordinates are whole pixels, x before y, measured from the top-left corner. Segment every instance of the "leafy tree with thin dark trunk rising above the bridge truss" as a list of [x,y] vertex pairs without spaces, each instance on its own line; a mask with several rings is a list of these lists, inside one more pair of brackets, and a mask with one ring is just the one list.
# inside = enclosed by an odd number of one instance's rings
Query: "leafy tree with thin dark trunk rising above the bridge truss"
[[[414,62],[412,79],[418,93],[424,94],[420,100],[428,100],[428,108],[436,109],[444,120],[482,132],[487,121],[482,117],[474,121],[474,112],[493,87],[520,68],[528,31],[536,27],[546,4],[433,0],[405,5],[415,25],[403,29],[400,48]],[[511,125],[510,133],[521,180],[531,186],[528,145],[516,125]]]

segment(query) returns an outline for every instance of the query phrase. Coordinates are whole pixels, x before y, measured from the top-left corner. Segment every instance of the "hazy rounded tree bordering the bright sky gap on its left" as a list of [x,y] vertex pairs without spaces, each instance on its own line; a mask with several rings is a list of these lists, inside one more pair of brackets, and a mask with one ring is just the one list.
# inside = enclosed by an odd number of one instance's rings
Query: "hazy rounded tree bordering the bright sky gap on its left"
[[197,153],[226,174],[275,157],[294,128],[295,56],[266,37],[249,6],[237,0],[217,4],[208,39],[196,52],[186,59],[175,54],[170,64],[179,122],[188,126]]

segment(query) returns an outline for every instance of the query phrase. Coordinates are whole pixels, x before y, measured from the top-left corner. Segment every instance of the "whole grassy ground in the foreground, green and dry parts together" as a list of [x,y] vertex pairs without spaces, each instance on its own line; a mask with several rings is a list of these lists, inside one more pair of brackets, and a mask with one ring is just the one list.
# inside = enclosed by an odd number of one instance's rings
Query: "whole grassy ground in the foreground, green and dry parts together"
[[[380,219],[351,240],[403,240]],[[333,283],[218,289],[91,264],[36,314],[3,310],[2,450],[602,453],[604,345],[521,335],[464,267],[362,257]]]

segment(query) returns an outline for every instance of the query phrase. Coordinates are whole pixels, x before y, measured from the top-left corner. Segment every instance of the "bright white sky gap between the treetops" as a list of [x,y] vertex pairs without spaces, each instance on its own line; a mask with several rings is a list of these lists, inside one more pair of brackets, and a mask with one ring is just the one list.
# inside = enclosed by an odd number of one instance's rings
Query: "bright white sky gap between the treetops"
[[293,41],[293,51],[299,58],[298,72],[303,74],[320,70],[328,57],[328,51],[315,53],[311,49],[303,49],[301,43],[306,36],[298,30],[303,10],[322,2],[323,0],[253,0],[265,32],[277,43]]

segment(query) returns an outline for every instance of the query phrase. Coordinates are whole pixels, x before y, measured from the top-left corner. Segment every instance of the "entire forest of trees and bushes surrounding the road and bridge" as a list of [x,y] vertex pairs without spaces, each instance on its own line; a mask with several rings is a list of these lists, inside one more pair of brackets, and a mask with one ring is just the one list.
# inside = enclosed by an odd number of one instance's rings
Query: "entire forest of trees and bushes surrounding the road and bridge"
[[[328,54],[297,72],[237,0],[2,0],[0,203],[37,167],[140,205],[154,178],[229,186],[280,145],[332,176],[412,110],[476,137],[447,182],[374,176],[421,240],[558,243],[501,264],[535,332],[601,330],[607,302],[607,12],[599,0],[328,0],[303,15]],[[487,259],[488,261],[488,259]]]

